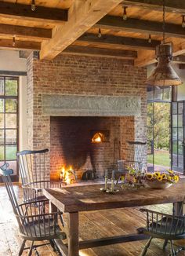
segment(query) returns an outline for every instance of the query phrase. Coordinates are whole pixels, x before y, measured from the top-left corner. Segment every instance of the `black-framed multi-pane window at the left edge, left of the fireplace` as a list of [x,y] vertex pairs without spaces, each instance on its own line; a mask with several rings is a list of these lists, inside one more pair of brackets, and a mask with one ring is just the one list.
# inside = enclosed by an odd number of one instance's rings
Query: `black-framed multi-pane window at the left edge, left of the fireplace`
[[0,164],[9,163],[14,181],[17,177],[18,84],[17,77],[0,76]]

